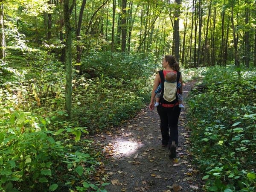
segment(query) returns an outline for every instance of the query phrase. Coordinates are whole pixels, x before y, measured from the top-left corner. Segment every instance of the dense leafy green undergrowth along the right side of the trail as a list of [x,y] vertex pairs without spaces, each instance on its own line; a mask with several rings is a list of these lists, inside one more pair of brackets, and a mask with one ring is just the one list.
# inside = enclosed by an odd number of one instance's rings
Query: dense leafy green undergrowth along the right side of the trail
[[192,153],[207,191],[255,191],[256,71],[212,67],[189,98]]

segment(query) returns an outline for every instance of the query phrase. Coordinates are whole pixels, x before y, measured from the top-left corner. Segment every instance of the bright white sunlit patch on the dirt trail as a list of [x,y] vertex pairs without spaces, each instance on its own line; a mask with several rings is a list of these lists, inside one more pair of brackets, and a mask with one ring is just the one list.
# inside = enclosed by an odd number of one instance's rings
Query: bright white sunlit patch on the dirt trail
[[143,146],[143,143],[129,140],[115,140],[113,142],[114,157],[128,157],[135,154]]

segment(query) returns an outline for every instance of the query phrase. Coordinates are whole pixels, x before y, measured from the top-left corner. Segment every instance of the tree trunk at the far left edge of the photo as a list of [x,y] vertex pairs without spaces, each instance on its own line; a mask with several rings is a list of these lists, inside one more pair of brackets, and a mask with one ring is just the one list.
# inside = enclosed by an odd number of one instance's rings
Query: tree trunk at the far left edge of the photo
[[5,32],[3,24],[3,0],[0,0],[0,59],[5,58]]

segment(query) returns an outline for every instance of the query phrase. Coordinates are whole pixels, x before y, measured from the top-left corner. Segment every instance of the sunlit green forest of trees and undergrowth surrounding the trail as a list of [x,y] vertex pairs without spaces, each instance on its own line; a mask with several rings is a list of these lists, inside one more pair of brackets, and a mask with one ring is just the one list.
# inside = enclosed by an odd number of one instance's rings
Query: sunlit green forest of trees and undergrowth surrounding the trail
[[255,0],[0,0],[0,191],[106,192],[87,136],[180,64],[201,191],[256,191]]

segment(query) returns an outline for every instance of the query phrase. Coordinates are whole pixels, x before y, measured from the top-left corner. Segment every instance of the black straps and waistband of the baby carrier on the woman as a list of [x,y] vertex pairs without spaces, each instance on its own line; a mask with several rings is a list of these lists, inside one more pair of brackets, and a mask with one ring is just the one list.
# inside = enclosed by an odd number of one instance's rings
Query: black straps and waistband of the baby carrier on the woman
[[[176,92],[176,99],[174,101],[168,102],[165,99],[163,99],[163,90],[164,90],[164,81],[165,81],[164,75],[163,75],[163,70],[158,71],[158,73],[159,73],[159,76],[160,76],[160,79],[161,79],[161,88],[162,88],[162,91],[161,91],[161,94],[160,94],[160,105],[162,105],[163,107],[174,107],[174,106],[178,105],[178,94],[177,94],[177,92]],[[177,84],[180,80],[180,74],[181,74],[180,71],[177,71],[177,79],[176,79]]]

